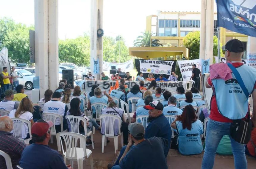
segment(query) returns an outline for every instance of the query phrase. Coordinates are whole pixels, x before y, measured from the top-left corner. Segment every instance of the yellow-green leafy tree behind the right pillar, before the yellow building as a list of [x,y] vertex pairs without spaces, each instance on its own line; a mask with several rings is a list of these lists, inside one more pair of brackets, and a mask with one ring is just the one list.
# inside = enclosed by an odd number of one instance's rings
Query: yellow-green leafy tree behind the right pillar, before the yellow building
[[[200,31],[193,31],[188,33],[183,38],[184,47],[189,50],[189,59],[199,59],[200,49]],[[213,36],[213,55],[218,55],[218,38]]]

